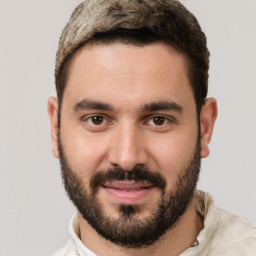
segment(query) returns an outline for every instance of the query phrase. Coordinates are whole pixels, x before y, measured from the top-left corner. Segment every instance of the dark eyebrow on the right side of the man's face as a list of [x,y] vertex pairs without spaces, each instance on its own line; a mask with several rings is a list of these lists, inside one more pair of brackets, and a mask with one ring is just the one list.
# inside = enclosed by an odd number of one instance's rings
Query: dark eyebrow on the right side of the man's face
[[183,108],[181,105],[173,101],[151,102],[149,104],[145,104],[141,108],[141,112],[154,112],[154,111],[161,111],[161,110],[172,110],[172,111],[181,113],[183,111]]

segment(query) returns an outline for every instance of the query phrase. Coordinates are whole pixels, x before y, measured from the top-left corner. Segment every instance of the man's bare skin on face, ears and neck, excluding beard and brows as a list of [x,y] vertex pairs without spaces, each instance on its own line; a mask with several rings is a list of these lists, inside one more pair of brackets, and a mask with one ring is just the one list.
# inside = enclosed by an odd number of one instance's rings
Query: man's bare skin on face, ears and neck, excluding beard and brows
[[[186,58],[170,46],[87,45],[73,58],[63,95],[60,135],[72,168],[83,178],[89,191],[89,178],[95,170],[120,166],[130,170],[143,165],[159,171],[174,189],[177,175],[195,150],[198,121],[196,104],[187,76]],[[108,104],[102,110],[78,107],[83,100]],[[171,102],[177,109],[148,110],[155,102]],[[80,104],[81,106],[81,104]],[[144,108],[143,108],[144,107]],[[58,151],[58,102],[48,101],[53,154]],[[95,125],[91,116],[104,117]],[[164,117],[154,122],[153,117]],[[201,157],[209,155],[217,104],[210,98],[200,114]],[[118,218],[118,202],[104,189],[98,198],[106,215]],[[150,215],[160,199],[153,188],[138,200],[139,218]],[[101,237],[79,215],[81,240],[97,255],[179,255],[189,248],[203,228],[194,200],[174,229],[152,246],[124,249]]]

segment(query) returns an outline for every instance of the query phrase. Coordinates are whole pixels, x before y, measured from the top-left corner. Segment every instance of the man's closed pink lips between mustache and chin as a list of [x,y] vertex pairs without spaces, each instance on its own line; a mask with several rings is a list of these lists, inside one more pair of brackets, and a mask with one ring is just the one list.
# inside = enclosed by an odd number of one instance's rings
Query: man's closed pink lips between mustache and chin
[[147,197],[154,186],[147,182],[114,181],[103,185],[103,189],[120,204],[137,204]]

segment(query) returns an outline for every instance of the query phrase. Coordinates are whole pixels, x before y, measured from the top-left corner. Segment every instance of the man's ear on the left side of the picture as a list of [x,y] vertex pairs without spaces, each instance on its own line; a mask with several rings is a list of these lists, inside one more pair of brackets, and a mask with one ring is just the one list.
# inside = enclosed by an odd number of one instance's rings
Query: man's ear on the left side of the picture
[[59,158],[58,149],[58,101],[56,97],[50,97],[47,104],[47,112],[51,125],[51,138],[52,138],[52,153],[56,158]]

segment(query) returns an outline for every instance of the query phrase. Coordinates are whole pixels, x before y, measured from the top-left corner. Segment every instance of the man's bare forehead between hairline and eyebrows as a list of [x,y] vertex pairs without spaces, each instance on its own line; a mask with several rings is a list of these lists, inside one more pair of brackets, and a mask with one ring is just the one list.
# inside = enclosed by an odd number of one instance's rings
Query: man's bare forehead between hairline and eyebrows
[[[186,57],[164,43],[88,44],[73,57],[64,97],[126,102],[192,97]],[[180,98],[180,99],[179,99]],[[129,100],[130,99],[130,100]],[[64,103],[64,102],[63,102]]]

